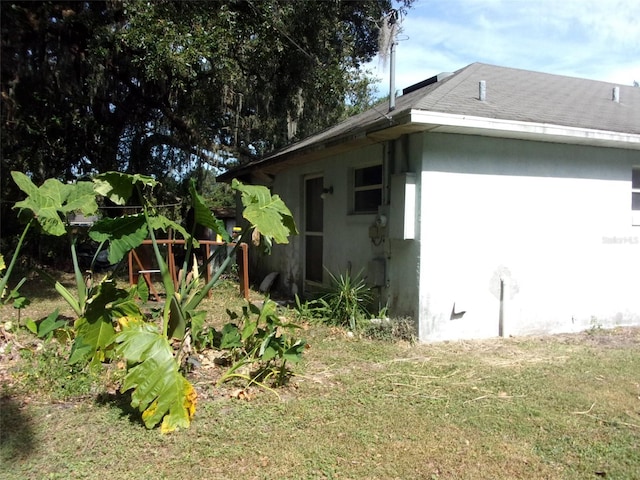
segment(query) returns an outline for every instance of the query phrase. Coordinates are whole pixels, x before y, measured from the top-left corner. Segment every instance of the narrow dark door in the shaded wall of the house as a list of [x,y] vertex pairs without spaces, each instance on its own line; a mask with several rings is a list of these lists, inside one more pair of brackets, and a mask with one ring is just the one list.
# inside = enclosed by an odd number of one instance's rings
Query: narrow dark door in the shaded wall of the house
[[305,281],[322,283],[322,239],[324,209],[322,201],[323,177],[305,179]]

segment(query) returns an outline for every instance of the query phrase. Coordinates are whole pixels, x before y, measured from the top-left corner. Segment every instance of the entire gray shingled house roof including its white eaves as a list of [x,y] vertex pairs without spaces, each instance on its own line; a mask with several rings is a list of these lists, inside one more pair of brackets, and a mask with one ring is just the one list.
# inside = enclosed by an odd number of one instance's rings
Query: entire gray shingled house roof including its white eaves
[[640,149],[640,88],[473,63],[406,88],[391,111],[376,105],[220,178],[273,174],[291,163],[427,130]]

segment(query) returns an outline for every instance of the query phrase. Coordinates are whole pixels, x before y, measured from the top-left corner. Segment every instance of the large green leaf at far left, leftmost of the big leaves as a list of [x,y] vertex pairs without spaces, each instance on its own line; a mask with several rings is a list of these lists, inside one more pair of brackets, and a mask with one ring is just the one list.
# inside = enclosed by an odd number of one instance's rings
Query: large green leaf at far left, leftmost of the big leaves
[[42,229],[49,235],[61,236],[66,233],[66,214],[80,211],[91,215],[98,209],[93,185],[89,182],[76,184],[62,183],[55,178],[47,179],[37,187],[22,172],[11,172],[14,182],[27,198],[16,202],[16,208],[31,210]]

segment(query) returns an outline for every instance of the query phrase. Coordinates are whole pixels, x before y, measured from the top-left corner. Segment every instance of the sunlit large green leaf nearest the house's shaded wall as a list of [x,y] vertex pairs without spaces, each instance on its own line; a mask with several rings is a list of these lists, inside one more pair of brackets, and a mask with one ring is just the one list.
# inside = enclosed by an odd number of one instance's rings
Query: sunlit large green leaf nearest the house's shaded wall
[[244,185],[236,179],[231,187],[242,194],[243,216],[261,235],[276,243],[289,243],[289,235],[297,235],[293,215],[278,195],[271,195],[262,185]]

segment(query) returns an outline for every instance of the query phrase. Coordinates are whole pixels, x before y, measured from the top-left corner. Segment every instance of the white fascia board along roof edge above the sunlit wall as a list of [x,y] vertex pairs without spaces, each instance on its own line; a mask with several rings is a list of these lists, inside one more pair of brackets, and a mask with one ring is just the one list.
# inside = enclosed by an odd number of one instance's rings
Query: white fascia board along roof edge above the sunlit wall
[[640,150],[640,135],[548,123],[502,120],[451,113],[411,110],[408,123],[419,130],[443,133],[465,133],[502,138],[519,138],[542,142],[571,143]]

